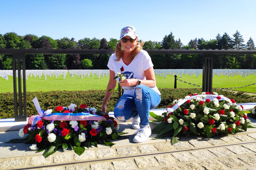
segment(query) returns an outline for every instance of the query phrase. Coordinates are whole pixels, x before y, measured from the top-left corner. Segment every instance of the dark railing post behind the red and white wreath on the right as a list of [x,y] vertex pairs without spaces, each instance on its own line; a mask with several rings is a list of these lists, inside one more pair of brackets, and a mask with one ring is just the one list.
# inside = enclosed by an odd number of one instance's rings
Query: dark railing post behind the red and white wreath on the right
[[213,54],[203,54],[203,92],[212,93]]

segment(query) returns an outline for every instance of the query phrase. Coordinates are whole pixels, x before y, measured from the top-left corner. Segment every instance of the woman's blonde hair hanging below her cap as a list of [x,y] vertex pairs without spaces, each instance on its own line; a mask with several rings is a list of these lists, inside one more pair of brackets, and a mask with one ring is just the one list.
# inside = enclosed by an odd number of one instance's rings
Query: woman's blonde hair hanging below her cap
[[[138,37],[136,37],[136,38],[138,38]],[[141,41],[141,42],[137,41],[137,44],[136,44],[135,48],[133,49],[131,56],[129,57],[130,61],[132,61],[134,59],[134,57],[140,52],[143,45],[144,45],[143,41]],[[124,50],[122,49],[121,42],[119,42],[116,45],[116,49],[115,49],[115,53],[116,53],[116,57],[117,57],[116,61],[119,61],[122,58],[123,52],[124,52]]]

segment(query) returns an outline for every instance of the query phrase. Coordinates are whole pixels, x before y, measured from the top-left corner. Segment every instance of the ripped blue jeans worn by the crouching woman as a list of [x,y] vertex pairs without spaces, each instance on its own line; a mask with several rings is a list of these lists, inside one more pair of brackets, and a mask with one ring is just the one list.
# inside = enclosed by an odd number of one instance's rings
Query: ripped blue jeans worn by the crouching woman
[[149,110],[155,108],[161,101],[161,96],[153,89],[139,85],[135,87],[134,97],[123,95],[117,102],[114,115],[122,122],[132,117],[140,116],[140,124],[148,125]]

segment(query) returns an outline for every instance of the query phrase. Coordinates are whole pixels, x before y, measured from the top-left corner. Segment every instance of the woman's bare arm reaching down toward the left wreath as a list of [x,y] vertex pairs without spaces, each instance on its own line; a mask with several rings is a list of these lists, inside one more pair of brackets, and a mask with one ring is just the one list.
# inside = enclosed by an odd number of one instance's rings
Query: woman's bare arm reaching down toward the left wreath
[[107,110],[107,103],[108,103],[111,95],[113,94],[113,91],[109,92],[108,90],[116,88],[116,80],[114,78],[115,78],[115,72],[109,70],[109,81],[108,81],[108,86],[107,86],[106,94],[105,94],[105,97],[104,97],[103,102],[102,102],[102,107],[101,107],[101,111],[102,112],[106,112],[106,110]]

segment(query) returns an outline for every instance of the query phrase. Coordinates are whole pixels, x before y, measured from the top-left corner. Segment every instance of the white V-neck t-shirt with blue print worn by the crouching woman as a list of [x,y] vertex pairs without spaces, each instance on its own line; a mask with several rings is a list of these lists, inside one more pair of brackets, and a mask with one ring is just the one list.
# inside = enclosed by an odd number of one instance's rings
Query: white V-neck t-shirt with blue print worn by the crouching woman
[[[154,66],[148,52],[146,52],[143,49],[134,57],[133,61],[129,65],[126,65],[123,62],[122,58],[119,61],[116,61],[116,60],[117,60],[117,57],[116,57],[116,54],[114,53],[109,58],[108,68],[111,71],[114,71],[116,76],[118,72],[121,73],[121,68],[123,66],[124,67],[123,74],[126,75],[126,79],[146,80],[144,71]],[[124,89],[124,94],[134,96],[135,87],[123,87],[123,89]],[[151,89],[155,90],[159,95],[161,95],[160,91],[156,86]]]

